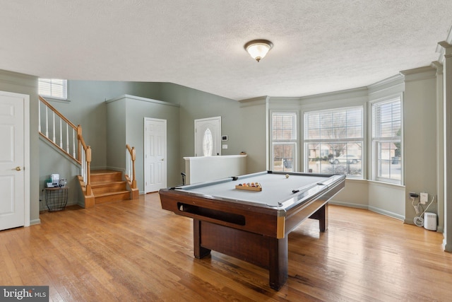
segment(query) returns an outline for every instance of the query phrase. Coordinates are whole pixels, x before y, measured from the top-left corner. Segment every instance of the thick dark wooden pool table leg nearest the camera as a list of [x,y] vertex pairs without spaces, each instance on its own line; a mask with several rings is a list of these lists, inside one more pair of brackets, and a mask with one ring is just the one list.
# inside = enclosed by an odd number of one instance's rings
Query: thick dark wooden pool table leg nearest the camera
[[270,287],[279,291],[287,281],[288,274],[288,244],[287,236],[277,239],[270,238],[270,263],[268,271],[270,274]]

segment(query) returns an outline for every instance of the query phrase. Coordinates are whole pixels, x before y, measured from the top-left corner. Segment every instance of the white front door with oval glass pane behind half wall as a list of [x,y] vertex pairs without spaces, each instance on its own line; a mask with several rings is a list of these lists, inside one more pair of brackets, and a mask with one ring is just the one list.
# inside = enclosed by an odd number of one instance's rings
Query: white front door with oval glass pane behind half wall
[[221,155],[221,117],[195,120],[195,156]]

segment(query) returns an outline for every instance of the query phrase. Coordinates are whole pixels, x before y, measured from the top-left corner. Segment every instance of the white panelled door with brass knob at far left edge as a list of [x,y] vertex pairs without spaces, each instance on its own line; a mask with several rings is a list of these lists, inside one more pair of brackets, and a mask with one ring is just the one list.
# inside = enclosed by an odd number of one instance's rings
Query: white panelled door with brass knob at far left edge
[[29,103],[0,91],[0,230],[30,225]]

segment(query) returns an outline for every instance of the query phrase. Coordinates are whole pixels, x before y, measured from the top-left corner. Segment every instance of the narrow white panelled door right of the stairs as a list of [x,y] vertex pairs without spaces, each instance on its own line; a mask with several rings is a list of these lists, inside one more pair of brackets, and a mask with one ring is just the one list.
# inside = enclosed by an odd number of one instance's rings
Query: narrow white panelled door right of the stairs
[[167,187],[167,121],[144,119],[145,193]]

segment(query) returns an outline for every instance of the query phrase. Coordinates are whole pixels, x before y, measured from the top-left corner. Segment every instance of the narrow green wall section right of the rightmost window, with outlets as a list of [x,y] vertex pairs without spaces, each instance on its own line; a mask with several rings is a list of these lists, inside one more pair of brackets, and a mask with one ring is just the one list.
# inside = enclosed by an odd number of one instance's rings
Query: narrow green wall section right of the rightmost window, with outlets
[[[403,148],[405,156],[406,211],[405,223],[413,223],[416,215],[409,192],[427,192],[429,201],[434,196],[436,202],[428,211],[438,214],[444,207],[437,184],[440,181],[436,165],[438,161],[436,136],[436,69],[428,67],[404,71],[405,93],[403,98]],[[441,108],[442,112],[442,108]],[[441,170],[442,171],[442,170]],[[442,173],[442,172],[441,172]],[[440,173],[440,174],[441,174]],[[424,206],[425,208],[425,206]],[[439,229],[444,228],[444,217],[439,217]]]

